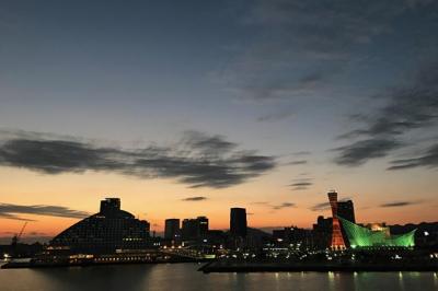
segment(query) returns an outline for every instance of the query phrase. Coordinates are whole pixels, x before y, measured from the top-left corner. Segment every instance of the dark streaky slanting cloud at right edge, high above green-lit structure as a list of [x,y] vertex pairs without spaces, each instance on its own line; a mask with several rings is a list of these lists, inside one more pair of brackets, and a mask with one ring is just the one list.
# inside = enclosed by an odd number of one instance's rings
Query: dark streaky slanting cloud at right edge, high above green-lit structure
[[[355,139],[350,144],[335,149],[339,165],[356,166],[370,159],[383,158],[402,148],[400,140],[407,132],[436,126],[438,120],[438,61],[422,68],[411,84],[404,84],[379,95],[385,105],[371,116],[364,116],[361,128],[346,132],[342,138]],[[364,139],[365,138],[365,139]],[[427,152],[434,158],[434,149]],[[426,165],[425,159],[393,161],[390,170]],[[435,162],[436,164],[436,162]],[[431,161],[429,166],[434,166]]]

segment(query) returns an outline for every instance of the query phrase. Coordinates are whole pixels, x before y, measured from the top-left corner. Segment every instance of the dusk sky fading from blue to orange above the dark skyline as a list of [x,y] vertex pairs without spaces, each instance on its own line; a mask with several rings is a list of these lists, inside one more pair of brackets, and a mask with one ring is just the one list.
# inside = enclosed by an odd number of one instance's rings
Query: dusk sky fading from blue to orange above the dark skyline
[[438,1],[0,3],[0,236],[100,200],[161,232],[230,207],[437,221]]

